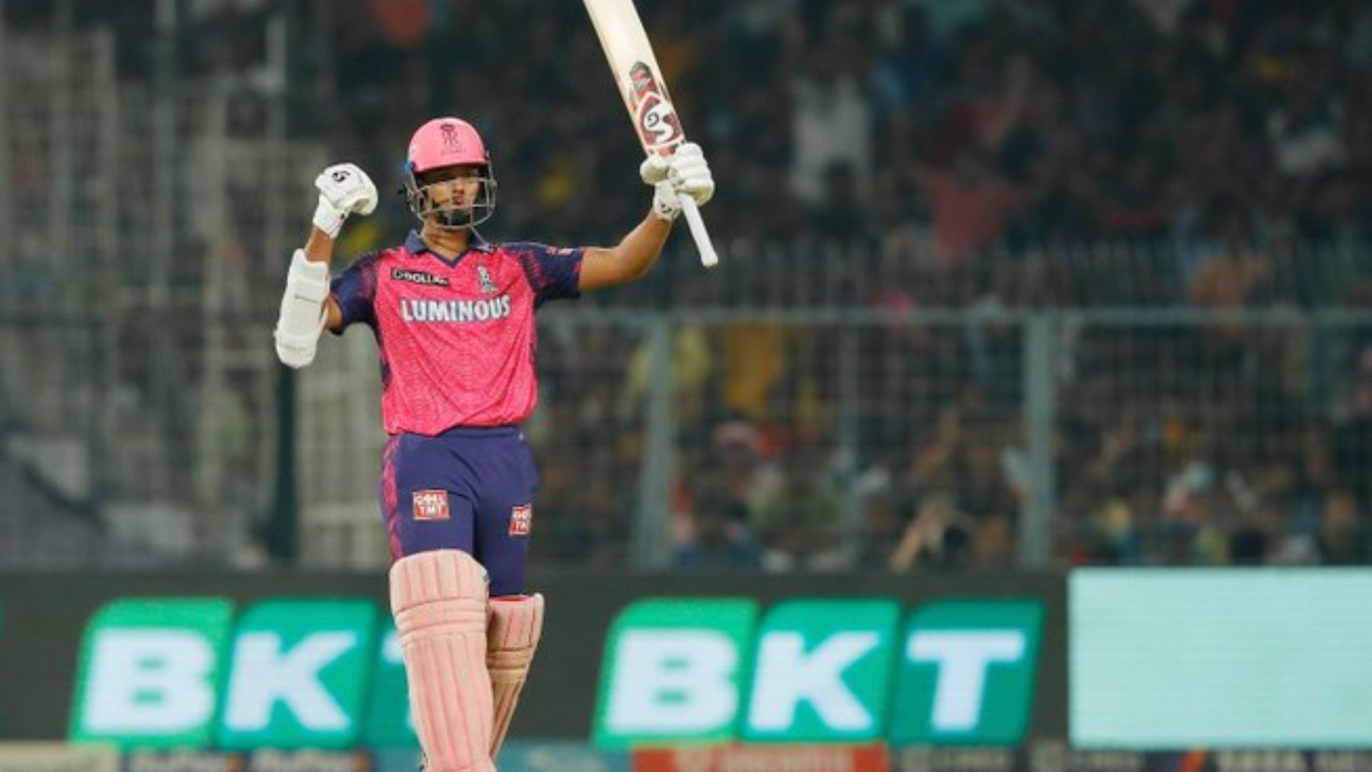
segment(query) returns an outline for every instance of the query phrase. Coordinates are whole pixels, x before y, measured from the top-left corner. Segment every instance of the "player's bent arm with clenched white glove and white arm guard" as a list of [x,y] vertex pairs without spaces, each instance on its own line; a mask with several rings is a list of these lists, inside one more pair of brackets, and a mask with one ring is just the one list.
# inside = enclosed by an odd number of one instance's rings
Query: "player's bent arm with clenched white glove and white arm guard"
[[277,359],[296,368],[314,361],[324,327],[343,321],[338,304],[329,297],[333,240],[350,214],[376,210],[376,185],[353,163],[329,166],[314,180],[314,187],[320,191],[314,228],[305,249],[291,256],[274,332]]

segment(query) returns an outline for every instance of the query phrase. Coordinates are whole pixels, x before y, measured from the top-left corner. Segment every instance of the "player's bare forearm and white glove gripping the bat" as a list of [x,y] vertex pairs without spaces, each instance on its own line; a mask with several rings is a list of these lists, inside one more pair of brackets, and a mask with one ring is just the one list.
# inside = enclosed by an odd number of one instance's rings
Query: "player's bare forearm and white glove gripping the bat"
[[663,253],[672,223],[682,213],[682,196],[704,206],[715,195],[715,177],[696,143],[682,144],[670,157],[648,158],[638,173],[653,185],[653,209],[619,246],[586,250],[578,283],[578,290],[583,293],[642,277]]

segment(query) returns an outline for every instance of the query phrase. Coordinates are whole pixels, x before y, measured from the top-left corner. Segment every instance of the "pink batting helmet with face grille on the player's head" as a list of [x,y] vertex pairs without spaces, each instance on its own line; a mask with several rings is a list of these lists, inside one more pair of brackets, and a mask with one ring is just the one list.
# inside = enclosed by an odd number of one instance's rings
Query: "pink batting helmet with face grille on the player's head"
[[[482,168],[477,177],[482,188],[471,209],[435,206],[429,188],[449,183],[425,185],[418,177],[434,169],[464,165]],[[469,228],[490,218],[495,212],[495,173],[482,135],[466,121],[451,117],[434,118],[420,126],[405,154],[405,199],[416,217],[427,220],[434,216],[439,225],[447,228]]]

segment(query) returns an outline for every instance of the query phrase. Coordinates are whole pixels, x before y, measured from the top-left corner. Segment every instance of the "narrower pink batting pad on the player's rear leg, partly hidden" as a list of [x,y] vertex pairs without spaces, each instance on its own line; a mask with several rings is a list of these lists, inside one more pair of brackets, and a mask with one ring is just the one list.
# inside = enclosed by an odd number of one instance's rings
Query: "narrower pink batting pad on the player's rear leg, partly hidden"
[[543,596],[493,598],[490,610],[486,666],[495,696],[495,731],[491,735],[491,758],[495,758],[514,716],[519,692],[528,679],[538,639],[543,635]]

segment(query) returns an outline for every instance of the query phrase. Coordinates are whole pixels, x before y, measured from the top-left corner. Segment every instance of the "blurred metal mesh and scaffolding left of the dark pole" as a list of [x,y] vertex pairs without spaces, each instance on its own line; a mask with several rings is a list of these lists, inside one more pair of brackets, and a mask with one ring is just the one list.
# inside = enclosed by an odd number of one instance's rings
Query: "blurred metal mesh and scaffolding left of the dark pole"
[[322,152],[239,133],[233,84],[119,81],[107,30],[0,27],[0,562],[250,562]]

